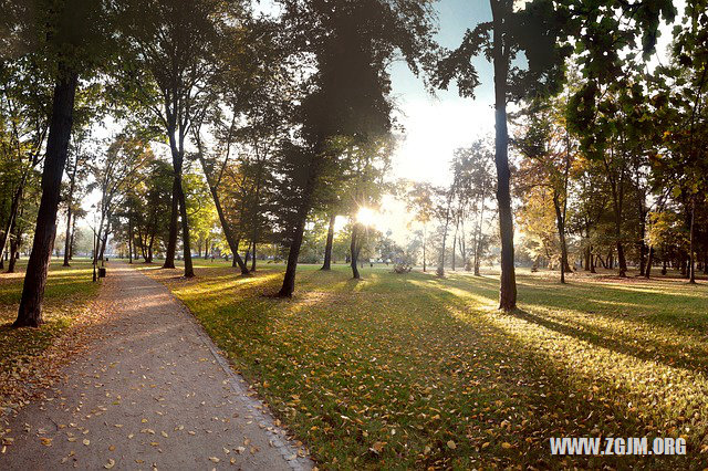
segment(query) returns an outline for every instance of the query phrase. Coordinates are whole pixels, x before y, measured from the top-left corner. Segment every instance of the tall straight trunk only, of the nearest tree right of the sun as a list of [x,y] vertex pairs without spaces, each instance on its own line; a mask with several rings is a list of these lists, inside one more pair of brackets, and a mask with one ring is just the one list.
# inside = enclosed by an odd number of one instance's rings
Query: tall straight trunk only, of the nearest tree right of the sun
[[[492,3],[492,6],[496,3]],[[499,236],[501,239],[501,276],[499,308],[512,311],[517,307],[517,280],[513,266],[513,216],[509,170],[509,133],[507,130],[507,81],[508,51],[504,51],[502,12],[500,6],[492,8],[493,63],[494,63],[494,165],[497,167],[497,201],[499,203]]]

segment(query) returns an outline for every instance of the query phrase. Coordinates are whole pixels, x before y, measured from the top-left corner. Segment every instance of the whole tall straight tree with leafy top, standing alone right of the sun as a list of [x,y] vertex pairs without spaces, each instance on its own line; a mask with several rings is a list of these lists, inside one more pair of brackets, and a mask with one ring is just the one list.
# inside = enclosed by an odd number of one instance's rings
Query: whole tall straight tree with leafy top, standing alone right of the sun
[[[563,80],[563,60],[571,49],[562,42],[561,28],[568,19],[565,7],[548,0],[528,2],[522,10],[516,10],[511,0],[490,0],[490,6],[492,21],[467,31],[462,44],[440,61],[434,84],[447,88],[456,80],[460,95],[473,98],[479,77],[472,57],[485,55],[493,64],[494,164],[501,239],[499,308],[512,311],[517,305],[517,284],[507,105],[528,96],[556,93]],[[521,53],[528,60],[525,71],[514,64]]]

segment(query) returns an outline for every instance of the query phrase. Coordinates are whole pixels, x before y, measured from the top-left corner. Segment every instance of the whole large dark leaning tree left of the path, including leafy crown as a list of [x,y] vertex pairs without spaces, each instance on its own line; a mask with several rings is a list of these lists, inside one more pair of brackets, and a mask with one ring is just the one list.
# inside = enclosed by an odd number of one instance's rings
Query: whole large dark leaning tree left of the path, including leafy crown
[[[32,253],[28,261],[22,297],[14,327],[37,327],[42,323],[42,300],[46,284],[46,270],[56,233],[61,180],[66,163],[72,129],[74,98],[80,74],[88,78],[96,63],[111,51],[107,31],[112,21],[103,1],[37,0],[32,9],[18,7],[3,14],[18,14],[15,43],[10,52],[28,50],[45,60],[51,71],[54,91],[44,169],[42,199],[37,217]],[[12,17],[14,18],[14,17]]]

